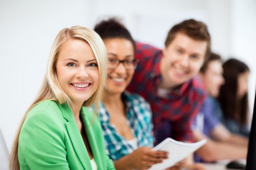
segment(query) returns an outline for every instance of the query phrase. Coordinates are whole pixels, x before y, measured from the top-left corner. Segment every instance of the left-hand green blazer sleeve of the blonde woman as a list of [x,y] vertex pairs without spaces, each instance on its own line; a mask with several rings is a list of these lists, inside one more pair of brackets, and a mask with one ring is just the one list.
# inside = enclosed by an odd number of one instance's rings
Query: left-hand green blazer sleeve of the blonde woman
[[20,170],[69,170],[63,127],[59,126],[44,113],[27,117],[19,137]]

